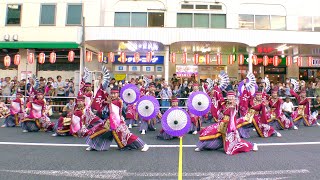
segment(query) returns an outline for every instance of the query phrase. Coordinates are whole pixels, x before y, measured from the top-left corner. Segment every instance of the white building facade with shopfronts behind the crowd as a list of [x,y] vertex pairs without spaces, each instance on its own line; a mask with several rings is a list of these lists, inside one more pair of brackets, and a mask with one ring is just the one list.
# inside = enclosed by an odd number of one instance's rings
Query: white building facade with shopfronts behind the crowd
[[[272,81],[310,80],[319,76],[319,5],[313,0],[7,0],[0,2],[0,74],[77,79],[83,66],[99,71],[105,64],[119,80],[141,75],[168,80],[173,73],[214,79],[222,70],[233,79],[252,71]],[[91,62],[85,61],[86,51],[93,52]],[[35,53],[32,64],[29,52]],[[43,64],[37,61],[41,52],[47,57]],[[13,59],[16,53],[20,64],[4,67],[3,57]]]

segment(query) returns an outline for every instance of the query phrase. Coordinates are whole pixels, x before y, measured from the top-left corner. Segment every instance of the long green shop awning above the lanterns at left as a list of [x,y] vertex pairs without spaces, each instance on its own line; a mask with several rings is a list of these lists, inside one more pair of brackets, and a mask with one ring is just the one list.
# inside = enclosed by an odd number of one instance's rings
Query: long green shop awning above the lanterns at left
[[2,49],[76,49],[75,42],[0,42]]

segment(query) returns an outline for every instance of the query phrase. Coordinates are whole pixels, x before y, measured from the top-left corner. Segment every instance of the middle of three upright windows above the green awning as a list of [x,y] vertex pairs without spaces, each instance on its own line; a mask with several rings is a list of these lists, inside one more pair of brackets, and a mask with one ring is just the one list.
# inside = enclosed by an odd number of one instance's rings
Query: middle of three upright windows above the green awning
[[41,5],[40,25],[54,25],[56,5]]

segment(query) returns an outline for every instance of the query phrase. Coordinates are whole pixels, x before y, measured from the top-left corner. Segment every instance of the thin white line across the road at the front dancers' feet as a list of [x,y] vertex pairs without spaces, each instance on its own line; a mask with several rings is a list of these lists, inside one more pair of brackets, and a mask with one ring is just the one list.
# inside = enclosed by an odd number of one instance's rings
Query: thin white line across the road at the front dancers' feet
[[[296,145],[320,145],[320,142],[292,142],[292,143],[257,143],[258,146],[296,146]],[[87,147],[86,144],[58,144],[58,143],[25,143],[25,142],[0,142],[0,145],[17,146],[55,146],[55,147]],[[111,145],[111,147],[118,147]],[[149,145],[151,148],[178,148],[179,145]],[[195,148],[196,145],[183,145],[185,148]]]

